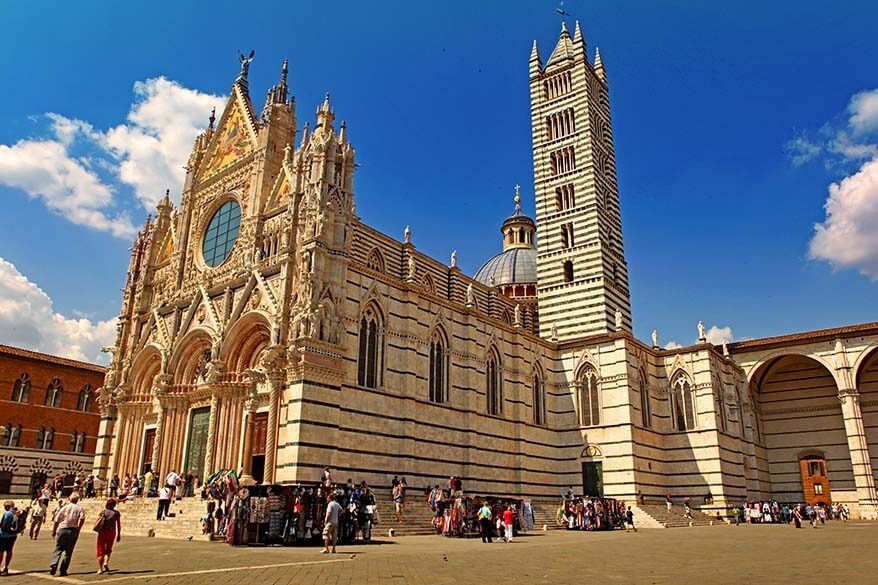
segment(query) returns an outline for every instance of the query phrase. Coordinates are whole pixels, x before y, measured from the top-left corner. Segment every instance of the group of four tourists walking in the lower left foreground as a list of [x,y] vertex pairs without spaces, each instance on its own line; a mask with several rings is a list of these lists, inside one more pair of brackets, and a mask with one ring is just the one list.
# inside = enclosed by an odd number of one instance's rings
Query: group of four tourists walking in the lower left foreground
[[[32,540],[39,538],[40,528],[49,515],[51,500],[52,492],[47,484],[24,510],[17,509],[12,501],[4,503],[3,515],[0,517],[0,553],[2,553],[0,574],[9,574],[15,542],[18,536],[25,532],[28,517],[30,517],[28,537]],[[57,508],[52,514],[52,538],[55,539],[55,549],[49,562],[50,575],[54,576],[56,572],[62,577],[67,575],[67,569],[73,559],[73,551],[86,520],[85,510],[79,504],[79,500],[78,492],[72,493],[66,501],[56,500]],[[113,545],[122,540],[122,520],[121,514],[116,510],[116,500],[112,498],[107,500],[92,529],[97,533],[97,572],[107,573],[110,571]]]

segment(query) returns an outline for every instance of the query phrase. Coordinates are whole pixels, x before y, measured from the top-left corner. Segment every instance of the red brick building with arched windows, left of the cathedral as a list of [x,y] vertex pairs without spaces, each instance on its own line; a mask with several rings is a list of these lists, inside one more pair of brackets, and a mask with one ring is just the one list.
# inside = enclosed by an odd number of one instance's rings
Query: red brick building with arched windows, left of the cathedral
[[26,494],[37,481],[91,472],[104,371],[0,345],[0,494]]

